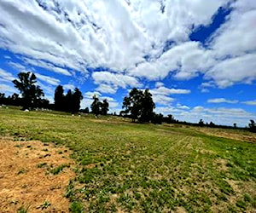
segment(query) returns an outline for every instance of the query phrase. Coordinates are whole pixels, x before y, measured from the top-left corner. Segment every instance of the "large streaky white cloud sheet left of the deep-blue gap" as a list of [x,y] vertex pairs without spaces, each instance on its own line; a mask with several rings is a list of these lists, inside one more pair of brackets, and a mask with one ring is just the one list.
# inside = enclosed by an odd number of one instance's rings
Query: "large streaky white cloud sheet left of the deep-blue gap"
[[85,66],[124,71],[144,55],[159,55],[167,40],[188,40],[192,26],[210,24],[226,2],[65,0],[40,7],[35,0],[3,0],[0,47],[81,72]]

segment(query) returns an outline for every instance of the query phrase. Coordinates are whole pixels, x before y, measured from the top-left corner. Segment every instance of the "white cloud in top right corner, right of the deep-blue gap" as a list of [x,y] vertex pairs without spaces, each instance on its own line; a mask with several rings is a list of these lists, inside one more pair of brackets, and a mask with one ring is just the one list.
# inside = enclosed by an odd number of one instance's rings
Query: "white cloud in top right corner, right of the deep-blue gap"
[[213,36],[212,49],[218,57],[245,55],[256,49],[255,1],[236,1],[232,7],[229,20]]

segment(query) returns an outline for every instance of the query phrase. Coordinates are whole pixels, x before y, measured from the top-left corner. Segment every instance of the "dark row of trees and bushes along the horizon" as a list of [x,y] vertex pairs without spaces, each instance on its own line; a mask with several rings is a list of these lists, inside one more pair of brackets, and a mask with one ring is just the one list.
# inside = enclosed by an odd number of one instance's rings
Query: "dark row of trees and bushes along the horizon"
[[[14,93],[5,97],[5,94],[0,93],[0,104],[22,106],[24,109],[32,108],[49,108],[56,111],[62,112],[85,112],[89,113],[88,107],[85,109],[80,109],[80,102],[83,100],[82,92],[75,88],[74,90],[68,89],[67,94],[64,94],[64,89],[61,85],[58,85],[55,89],[54,104],[50,104],[47,99],[44,99],[44,91],[37,85],[37,77],[32,72],[20,72],[18,74],[18,79],[13,81],[15,88],[20,90],[20,95]],[[104,99],[100,101],[96,95],[92,97],[92,103],[90,105],[91,113],[94,113],[96,117],[98,115],[107,115],[109,111],[108,100]],[[145,122],[153,124],[162,124],[165,122],[167,124],[190,124],[196,126],[207,126],[207,127],[221,127],[230,128],[230,126],[216,125],[210,122],[209,124],[204,124],[201,119],[198,124],[192,124],[188,122],[180,122],[173,116],[167,115],[164,117],[161,113],[154,112],[155,104],[149,89],[131,89],[129,95],[125,96],[123,100],[123,110],[119,112],[119,116],[131,118],[132,122]],[[236,124],[234,124],[234,129],[236,129]],[[253,120],[247,127],[248,130],[256,132],[256,124]]]

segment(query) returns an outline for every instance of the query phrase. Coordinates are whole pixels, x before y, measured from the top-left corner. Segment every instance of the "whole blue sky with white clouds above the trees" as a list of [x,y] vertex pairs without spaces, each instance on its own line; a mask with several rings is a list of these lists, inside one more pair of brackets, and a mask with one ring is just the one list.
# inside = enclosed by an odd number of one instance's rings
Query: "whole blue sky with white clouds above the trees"
[[1,0],[0,92],[34,72],[108,99],[148,88],[155,112],[244,127],[256,120],[255,0]]

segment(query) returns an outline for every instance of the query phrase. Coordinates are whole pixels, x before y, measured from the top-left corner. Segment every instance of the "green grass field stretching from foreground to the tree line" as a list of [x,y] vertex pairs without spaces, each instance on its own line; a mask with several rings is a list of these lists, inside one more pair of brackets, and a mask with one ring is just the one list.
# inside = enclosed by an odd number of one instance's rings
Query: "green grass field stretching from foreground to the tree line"
[[0,109],[1,136],[73,151],[71,212],[256,212],[254,135],[209,131]]

